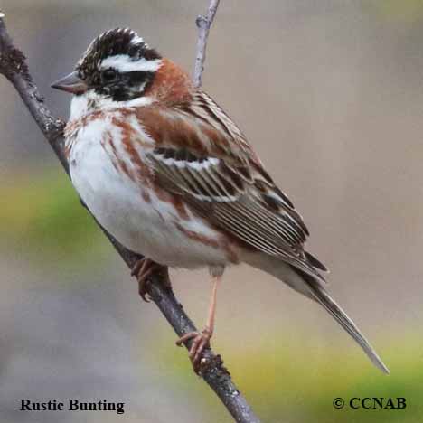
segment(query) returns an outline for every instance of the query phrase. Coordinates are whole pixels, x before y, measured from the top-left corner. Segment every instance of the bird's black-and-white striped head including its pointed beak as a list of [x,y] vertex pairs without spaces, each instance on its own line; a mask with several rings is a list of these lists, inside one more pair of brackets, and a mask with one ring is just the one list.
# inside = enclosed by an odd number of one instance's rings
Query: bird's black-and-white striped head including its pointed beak
[[100,34],[78,61],[75,71],[52,88],[77,96],[91,93],[113,102],[142,97],[162,66],[162,56],[136,32],[116,28]]

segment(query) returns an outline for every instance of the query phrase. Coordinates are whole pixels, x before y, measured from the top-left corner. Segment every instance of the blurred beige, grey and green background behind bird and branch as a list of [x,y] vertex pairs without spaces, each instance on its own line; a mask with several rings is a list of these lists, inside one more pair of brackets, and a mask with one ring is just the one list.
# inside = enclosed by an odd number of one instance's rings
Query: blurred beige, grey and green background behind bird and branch
[[[206,1],[4,0],[9,32],[49,88],[89,41],[131,26],[192,69]],[[404,422],[423,415],[423,4],[417,0],[221,0],[204,89],[230,113],[296,203],[331,292],[390,367],[371,366],[331,318],[277,280],[230,268],[216,351],[264,422]],[[80,207],[71,183],[0,80],[0,417],[19,399],[117,400],[83,421],[229,422],[154,305]],[[207,271],[172,271],[196,324]],[[405,397],[407,409],[334,409],[334,398]]]

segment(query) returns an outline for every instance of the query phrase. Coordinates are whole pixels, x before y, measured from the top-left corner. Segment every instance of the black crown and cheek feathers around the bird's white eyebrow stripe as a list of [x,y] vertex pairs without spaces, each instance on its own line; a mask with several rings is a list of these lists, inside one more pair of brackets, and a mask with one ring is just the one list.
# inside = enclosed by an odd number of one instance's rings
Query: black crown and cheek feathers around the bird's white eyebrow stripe
[[80,78],[97,93],[115,101],[136,99],[143,95],[153,81],[155,72],[99,69],[102,61],[120,54],[127,55],[132,61],[155,61],[162,58],[158,52],[142,42],[134,31],[117,28],[102,33],[91,42],[76,69]]

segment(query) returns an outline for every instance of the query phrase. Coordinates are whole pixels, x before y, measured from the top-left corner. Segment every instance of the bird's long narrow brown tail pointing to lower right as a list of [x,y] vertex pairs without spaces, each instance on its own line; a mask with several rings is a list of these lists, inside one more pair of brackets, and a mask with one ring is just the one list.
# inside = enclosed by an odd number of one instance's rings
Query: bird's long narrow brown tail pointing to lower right
[[244,261],[254,268],[260,268],[274,277],[277,277],[296,291],[314,299],[320,305],[323,305],[324,309],[334,317],[336,322],[341,324],[343,329],[351,335],[353,340],[362,347],[362,350],[371,359],[371,362],[384,373],[390,374],[390,371],[381,361],[379,355],[373,350],[371,344],[353,323],[353,320],[351,320],[343,309],[335,303],[334,299],[329,296],[324,284],[319,279],[288,265],[279,258],[268,255],[250,254],[244,258]]

